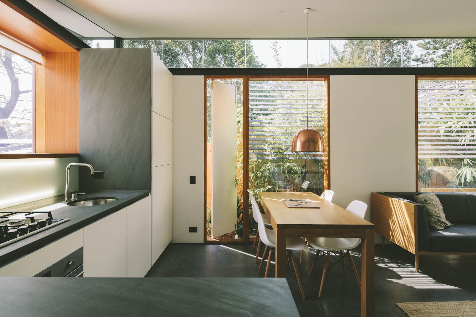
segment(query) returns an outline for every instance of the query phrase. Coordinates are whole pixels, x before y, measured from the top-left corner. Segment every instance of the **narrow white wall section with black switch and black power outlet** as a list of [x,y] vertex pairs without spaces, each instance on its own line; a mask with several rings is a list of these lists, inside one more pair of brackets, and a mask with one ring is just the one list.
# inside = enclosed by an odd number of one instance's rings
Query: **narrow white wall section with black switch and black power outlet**
[[[172,243],[203,243],[203,97],[203,76],[173,76]],[[196,184],[190,184],[190,176],[196,176]]]

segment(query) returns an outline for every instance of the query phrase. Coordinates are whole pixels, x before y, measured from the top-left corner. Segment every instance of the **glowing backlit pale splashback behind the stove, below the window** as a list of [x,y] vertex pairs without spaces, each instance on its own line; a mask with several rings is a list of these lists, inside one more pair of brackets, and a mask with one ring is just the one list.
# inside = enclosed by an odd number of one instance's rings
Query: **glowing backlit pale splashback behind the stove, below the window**
[[[0,209],[64,194],[66,166],[77,157],[1,159]],[[78,167],[69,170],[69,191],[78,190]]]

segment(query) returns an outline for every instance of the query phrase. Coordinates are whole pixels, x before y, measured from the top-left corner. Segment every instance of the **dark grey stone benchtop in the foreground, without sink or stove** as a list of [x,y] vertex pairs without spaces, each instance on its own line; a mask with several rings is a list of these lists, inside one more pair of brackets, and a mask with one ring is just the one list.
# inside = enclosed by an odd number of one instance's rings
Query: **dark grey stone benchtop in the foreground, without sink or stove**
[[286,279],[0,277],[2,317],[298,317]]

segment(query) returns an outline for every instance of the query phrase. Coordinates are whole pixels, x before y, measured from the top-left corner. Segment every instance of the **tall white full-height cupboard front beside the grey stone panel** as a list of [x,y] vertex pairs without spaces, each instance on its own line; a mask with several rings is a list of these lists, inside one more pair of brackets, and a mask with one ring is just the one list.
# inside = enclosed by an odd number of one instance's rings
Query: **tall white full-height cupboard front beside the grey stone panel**
[[152,61],[152,263],[172,240],[172,74],[151,52]]

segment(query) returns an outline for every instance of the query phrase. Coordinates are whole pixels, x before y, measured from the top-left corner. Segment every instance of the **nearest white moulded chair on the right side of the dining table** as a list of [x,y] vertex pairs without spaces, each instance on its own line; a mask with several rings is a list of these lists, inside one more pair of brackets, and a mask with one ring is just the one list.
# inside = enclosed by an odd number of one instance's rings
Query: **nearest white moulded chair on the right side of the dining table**
[[[367,212],[367,204],[365,202],[353,201],[347,206],[346,210],[363,219]],[[340,251],[340,261],[342,262],[342,269],[344,269],[344,275],[346,275],[344,250],[347,250],[347,258],[349,259],[350,265],[352,266],[352,270],[354,271],[354,275],[356,276],[357,283],[360,288],[360,279],[358,277],[354,260],[352,259],[352,255],[350,254],[350,250],[354,249],[359,245],[360,238],[307,238],[307,242],[311,247],[317,249],[316,257],[312,262],[309,275],[311,275],[312,269],[314,269],[314,265],[316,264],[316,260],[319,256],[320,250],[323,251],[323,256],[324,251],[327,251],[326,262],[324,264],[324,270],[322,271],[321,287],[319,288],[319,297],[321,297],[324,280],[326,279],[327,265],[329,264],[331,251]]]

